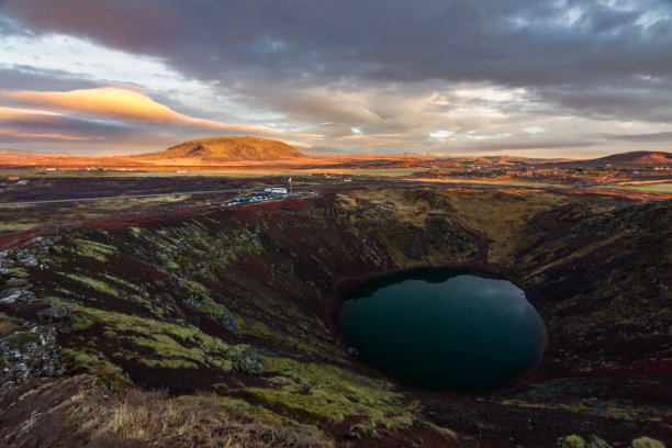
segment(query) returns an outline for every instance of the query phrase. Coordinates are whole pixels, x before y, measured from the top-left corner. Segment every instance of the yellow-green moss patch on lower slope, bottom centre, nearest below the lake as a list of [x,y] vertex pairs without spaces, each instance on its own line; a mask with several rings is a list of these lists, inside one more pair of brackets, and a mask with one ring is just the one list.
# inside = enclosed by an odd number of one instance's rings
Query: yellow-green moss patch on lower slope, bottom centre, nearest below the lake
[[291,417],[337,424],[360,417],[357,429],[372,436],[379,430],[397,430],[414,422],[417,403],[404,406],[402,394],[385,381],[362,377],[346,369],[264,357],[268,388],[244,388],[248,400]]

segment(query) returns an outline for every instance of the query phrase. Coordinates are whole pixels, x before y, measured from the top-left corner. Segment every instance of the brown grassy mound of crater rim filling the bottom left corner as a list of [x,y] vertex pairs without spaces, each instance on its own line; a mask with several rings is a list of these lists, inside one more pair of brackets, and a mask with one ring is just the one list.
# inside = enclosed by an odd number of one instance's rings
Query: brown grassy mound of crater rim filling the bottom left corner
[[[0,447],[26,448],[333,448],[314,426],[215,394],[169,396],[130,389],[120,395],[96,378],[35,380],[0,395]],[[11,404],[10,404],[11,403]],[[243,405],[240,405],[243,403]],[[345,445],[347,446],[347,444]]]

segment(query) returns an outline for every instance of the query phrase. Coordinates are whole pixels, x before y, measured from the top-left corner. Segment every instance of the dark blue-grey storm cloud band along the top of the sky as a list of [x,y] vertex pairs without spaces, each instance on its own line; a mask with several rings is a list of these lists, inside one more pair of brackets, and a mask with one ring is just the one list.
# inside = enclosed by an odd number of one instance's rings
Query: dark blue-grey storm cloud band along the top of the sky
[[672,3],[623,3],[628,10],[571,0],[9,0],[0,12],[209,79],[384,74],[533,86],[669,77]]

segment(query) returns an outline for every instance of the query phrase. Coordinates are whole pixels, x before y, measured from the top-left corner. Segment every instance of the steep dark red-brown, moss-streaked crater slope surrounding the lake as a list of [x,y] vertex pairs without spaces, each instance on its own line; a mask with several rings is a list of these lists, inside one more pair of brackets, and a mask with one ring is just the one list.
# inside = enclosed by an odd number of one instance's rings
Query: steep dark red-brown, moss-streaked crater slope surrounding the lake
[[[147,428],[115,433],[102,411],[77,424],[82,410],[110,406],[79,405],[96,378],[112,391],[210,391],[200,400],[217,412],[322,440],[304,446],[553,446],[574,432],[670,440],[670,222],[661,201],[351,190],[15,238],[0,258],[0,436],[47,438],[37,428],[53,417],[43,426],[72,446],[142,443]],[[550,334],[540,369],[473,396],[399,384],[348,356],[334,292],[427,266],[479,267],[525,287]],[[26,430],[19,410],[35,415],[30,399],[64,384],[65,404]],[[55,417],[66,411],[76,417]]]

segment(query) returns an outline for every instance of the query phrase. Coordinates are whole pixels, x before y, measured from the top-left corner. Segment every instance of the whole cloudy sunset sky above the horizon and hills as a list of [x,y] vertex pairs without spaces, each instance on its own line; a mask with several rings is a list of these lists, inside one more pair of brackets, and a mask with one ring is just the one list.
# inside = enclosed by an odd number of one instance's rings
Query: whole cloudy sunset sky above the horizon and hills
[[0,0],[0,149],[672,147],[670,0]]

